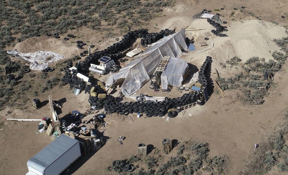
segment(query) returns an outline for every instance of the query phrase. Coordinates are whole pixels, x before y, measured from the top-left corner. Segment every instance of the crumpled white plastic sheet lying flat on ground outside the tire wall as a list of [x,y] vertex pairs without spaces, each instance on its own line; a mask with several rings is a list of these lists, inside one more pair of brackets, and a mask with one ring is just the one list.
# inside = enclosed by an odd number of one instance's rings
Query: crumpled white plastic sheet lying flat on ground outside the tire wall
[[[30,69],[32,70],[40,70],[48,67],[49,63],[59,61],[65,58],[64,55],[60,55],[50,51],[39,51],[34,53],[22,53],[17,52],[16,50],[7,51],[8,54],[13,54],[17,58],[25,59],[30,63]],[[50,58],[49,60],[47,60]]]

